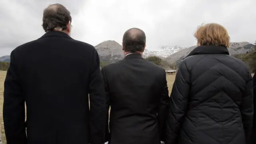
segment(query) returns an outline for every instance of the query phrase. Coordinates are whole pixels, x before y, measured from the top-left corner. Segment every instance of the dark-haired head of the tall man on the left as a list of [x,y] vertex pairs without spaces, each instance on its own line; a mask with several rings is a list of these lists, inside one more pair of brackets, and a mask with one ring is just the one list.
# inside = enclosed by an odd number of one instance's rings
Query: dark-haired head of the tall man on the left
[[45,32],[56,30],[70,35],[71,22],[70,12],[61,4],[52,4],[44,9],[42,26]]

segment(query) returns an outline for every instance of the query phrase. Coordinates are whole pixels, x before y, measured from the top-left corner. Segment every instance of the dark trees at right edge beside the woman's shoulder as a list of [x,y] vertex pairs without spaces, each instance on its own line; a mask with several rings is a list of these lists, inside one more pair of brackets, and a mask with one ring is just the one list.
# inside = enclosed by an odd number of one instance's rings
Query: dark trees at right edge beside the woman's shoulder
[[242,60],[249,68],[250,72],[256,72],[256,41],[252,50],[246,52],[246,54],[235,54],[234,57]]

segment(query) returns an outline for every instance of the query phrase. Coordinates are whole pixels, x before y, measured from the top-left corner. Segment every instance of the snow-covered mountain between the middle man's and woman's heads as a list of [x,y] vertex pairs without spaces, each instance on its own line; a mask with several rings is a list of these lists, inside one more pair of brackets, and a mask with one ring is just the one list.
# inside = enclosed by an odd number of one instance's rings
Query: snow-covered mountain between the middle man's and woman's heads
[[162,46],[159,50],[156,51],[150,51],[145,50],[143,52],[143,57],[149,57],[149,56],[158,56],[162,58],[167,58],[168,56],[175,54],[176,52],[179,52],[180,50],[183,50],[185,48],[182,48],[180,46]]

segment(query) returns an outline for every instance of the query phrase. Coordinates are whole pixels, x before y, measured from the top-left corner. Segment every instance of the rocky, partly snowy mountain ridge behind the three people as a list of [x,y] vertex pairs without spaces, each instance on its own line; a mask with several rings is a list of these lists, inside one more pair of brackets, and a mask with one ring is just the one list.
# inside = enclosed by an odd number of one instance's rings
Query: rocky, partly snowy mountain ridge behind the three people
[[[230,42],[230,48],[228,48],[230,55],[243,54],[252,49],[253,44],[249,42]],[[97,50],[100,60],[103,62],[115,62],[124,58],[124,52],[122,46],[114,40],[106,40],[94,46]],[[157,56],[169,63],[179,62],[189,52],[191,52],[196,46],[180,47],[174,46],[161,46],[159,50],[147,50],[143,52],[143,57]],[[10,56],[0,57],[0,61],[10,62]]]

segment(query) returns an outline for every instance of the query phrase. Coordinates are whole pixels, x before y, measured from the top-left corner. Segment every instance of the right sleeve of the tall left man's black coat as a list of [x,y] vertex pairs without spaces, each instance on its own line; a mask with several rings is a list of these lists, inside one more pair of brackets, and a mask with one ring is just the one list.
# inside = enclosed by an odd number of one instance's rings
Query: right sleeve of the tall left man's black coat
[[104,138],[106,96],[100,73],[100,59],[94,48],[90,66],[90,144],[102,144]]

